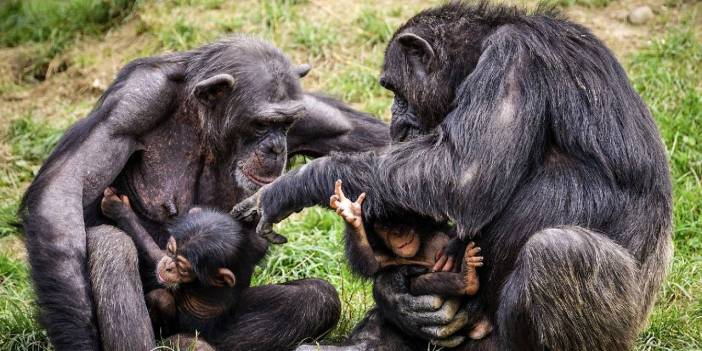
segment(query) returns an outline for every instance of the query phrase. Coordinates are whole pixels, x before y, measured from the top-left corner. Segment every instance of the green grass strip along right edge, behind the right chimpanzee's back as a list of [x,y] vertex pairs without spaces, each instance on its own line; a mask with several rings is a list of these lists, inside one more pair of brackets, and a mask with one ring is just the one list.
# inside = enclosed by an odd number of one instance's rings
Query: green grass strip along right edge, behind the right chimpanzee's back
[[658,121],[674,179],[675,259],[641,350],[702,349],[702,43],[674,30],[630,65]]

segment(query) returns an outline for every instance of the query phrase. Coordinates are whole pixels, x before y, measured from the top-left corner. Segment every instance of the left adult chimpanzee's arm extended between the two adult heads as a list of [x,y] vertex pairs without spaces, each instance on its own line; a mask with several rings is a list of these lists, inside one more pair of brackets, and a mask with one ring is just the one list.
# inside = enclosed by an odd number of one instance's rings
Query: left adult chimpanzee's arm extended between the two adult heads
[[288,155],[375,150],[390,143],[388,126],[320,94],[304,95],[305,116],[288,131]]

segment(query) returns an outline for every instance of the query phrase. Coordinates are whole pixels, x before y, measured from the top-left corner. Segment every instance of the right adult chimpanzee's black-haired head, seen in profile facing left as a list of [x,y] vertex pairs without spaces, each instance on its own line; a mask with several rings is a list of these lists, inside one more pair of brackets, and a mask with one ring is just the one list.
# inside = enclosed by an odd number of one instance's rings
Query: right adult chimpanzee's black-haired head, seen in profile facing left
[[426,133],[453,110],[456,90],[494,26],[480,16],[487,8],[451,3],[420,12],[395,32],[380,75],[380,85],[395,94],[394,141]]

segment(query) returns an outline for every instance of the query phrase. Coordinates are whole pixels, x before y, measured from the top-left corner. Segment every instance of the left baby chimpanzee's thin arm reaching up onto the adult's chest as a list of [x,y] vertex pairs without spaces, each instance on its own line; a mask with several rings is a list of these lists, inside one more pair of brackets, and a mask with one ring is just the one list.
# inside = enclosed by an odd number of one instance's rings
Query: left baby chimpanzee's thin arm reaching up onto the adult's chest
[[165,252],[158,247],[153,237],[139,223],[139,219],[129,205],[127,196],[117,195],[114,189],[107,188],[100,207],[105,216],[115,221],[117,227],[132,238],[139,251],[139,256],[148,260],[148,263],[152,265],[156,265],[163,258]]

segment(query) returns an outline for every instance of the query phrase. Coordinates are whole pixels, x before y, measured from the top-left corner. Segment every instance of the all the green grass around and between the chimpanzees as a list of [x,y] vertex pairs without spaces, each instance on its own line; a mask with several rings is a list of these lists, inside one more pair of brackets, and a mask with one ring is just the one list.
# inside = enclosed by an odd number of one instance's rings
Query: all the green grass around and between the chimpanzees
[[[609,2],[561,1],[595,7]],[[337,2],[321,1],[170,0],[122,6],[132,3],[4,2],[0,5],[0,46],[56,45],[46,29],[60,28],[61,34],[53,35],[65,36],[59,39],[58,47],[68,52],[82,37],[100,37],[110,26],[119,24],[117,19],[126,15],[119,9],[129,8],[139,17],[140,38],[148,38],[142,52],[145,55],[190,49],[230,32],[253,33],[273,40],[294,61],[313,64],[315,69],[303,80],[306,88],[332,93],[362,110],[387,116],[391,96],[377,84],[383,50],[393,28],[424,6],[381,7],[372,2],[353,6],[344,2],[338,8],[347,11],[341,15],[335,12]],[[63,16],[63,20],[53,14],[53,9],[66,11],[61,7],[68,4],[83,10]],[[94,6],[118,9],[108,15],[98,10],[96,13],[103,16],[99,18],[105,21],[96,22],[98,17],[91,17],[96,15],[85,13]],[[9,23],[20,23],[11,22],[18,19],[28,24],[10,28]],[[670,154],[675,197],[675,259],[650,325],[639,337],[638,350],[702,350],[702,43],[696,25],[689,21],[669,29],[647,48],[624,59],[632,83],[661,129]],[[77,55],[88,74],[91,69],[104,69],[100,60],[93,58],[94,52]],[[121,64],[131,58],[123,58]],[[54,84],[70,85],[74,78],[61,77],[65,80]],[[18,82],[12,92],[33,88],[32,83]],[[96,98],[76,92],[75,101],[61,100],[46,107],[28,104],[16,114],[0,116],[0,351],[49,349],[34,318],[34,295],[15,213],[23,189],[63,130],[84,116]],[[298,158],[293,163],[304,161]],[[352,276],[346,265],[342,228],[336,215],[323,209],[294,215],[278,225],[290,242],[273,247],[254,277],[254,284],[304,277],[334,284],[343,309],[341,322],[327,336],[329,340],[346,335],[372,305],[370,283]]]

